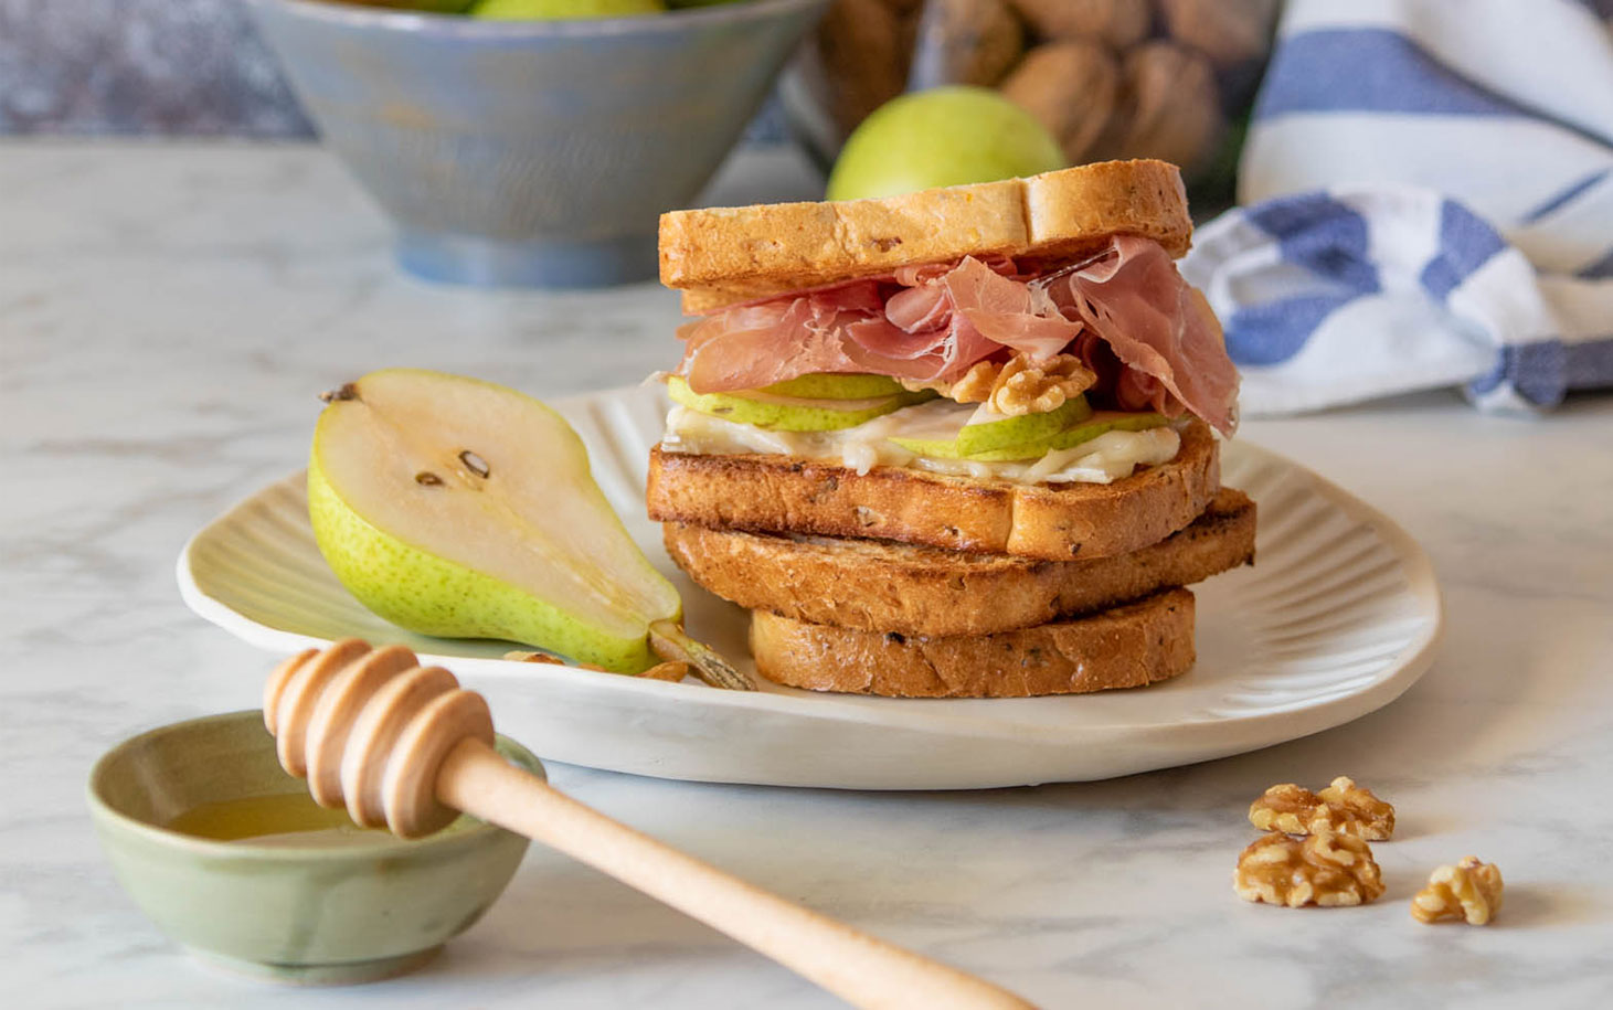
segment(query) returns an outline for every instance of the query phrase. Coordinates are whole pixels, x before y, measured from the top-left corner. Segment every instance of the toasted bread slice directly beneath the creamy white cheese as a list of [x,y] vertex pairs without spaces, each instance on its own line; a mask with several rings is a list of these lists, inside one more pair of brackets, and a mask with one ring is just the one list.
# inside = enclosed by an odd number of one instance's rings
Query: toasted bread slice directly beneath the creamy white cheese
[[1113,484],[1010,484],[786,455],[650,452],[647,502],[660,523],[868,537],[1048,561],[1107,558],[1198,518],[1221,487],[1202,421],[1176,458]]

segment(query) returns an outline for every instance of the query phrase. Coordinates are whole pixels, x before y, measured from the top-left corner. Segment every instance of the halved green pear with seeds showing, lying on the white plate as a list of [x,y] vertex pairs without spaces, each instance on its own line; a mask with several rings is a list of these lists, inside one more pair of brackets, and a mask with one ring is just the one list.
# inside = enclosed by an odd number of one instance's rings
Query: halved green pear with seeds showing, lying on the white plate
[[[369,610],[421,634],[508,639],[618,673],[653,666],[652,639],[705,649],[684,636],[677,591],[594,482],[582,440],[544,403],[408,368],[326,400],[308,516]],[[719,657],[700,673],[753,687]]]

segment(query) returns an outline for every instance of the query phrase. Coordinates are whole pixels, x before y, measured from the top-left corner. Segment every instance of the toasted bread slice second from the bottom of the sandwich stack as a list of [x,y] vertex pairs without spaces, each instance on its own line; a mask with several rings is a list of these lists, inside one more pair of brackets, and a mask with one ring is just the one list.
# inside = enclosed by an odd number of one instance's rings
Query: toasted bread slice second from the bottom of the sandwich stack
[[1248,565],[1255,503],[1223,487],[1186,529],[1084,561],[682,523],[668,523],[663,537],[689,578],[747,610],[861,631],[969,636],[1047,624]]

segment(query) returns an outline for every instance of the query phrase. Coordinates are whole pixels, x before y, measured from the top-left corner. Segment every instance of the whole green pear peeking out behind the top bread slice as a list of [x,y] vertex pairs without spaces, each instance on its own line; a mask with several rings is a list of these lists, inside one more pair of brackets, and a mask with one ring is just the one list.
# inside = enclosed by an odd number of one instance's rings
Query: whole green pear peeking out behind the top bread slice
[[863,119],[829,173],[827,195],[894,197],[1060,168],[1058,142],[1031,113],[987,87],[936,87]]

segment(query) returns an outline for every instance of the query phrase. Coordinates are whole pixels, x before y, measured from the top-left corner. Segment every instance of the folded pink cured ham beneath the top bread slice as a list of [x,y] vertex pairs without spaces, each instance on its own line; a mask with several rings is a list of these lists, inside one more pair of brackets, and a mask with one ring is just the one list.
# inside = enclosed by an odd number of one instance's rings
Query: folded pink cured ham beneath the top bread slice
[[1121,410],[1190,411],[1232,434],[1237,369],[1221,328],[1163,247],[1115,237],[1036,276],[1011,258],[903,266],[729,307],[682,326],[679,373],[697,392],[758,389],[810,373],[948,382],[976,361],[1069,350]]

